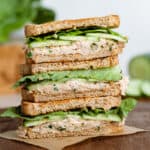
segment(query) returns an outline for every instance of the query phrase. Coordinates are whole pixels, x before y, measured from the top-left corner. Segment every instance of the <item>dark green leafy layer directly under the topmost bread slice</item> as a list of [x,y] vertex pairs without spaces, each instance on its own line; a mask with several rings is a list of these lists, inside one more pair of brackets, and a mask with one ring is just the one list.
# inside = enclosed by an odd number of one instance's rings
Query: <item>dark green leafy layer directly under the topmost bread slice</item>
[[[34,36],[27,38],[26,42],[29,44],[29,46],[32,47],[32,42],[43,42],[47,40],[60,40],[61,37],[69,37],[69,36],[88,36],[89,33],[104,33],[105,35],[111,35],[110,39],[116,40],[116,41],[122,41],[127,42],[127,37],[111,30],[108,28],[102,28],[102,27],[88,27],[88,28],[77,28],[77,29],[69,29],[69,30],[62,30],[55,33],[48,33],[40,36]],[[104,38],[104,37],[103,37]],[[69,39],[68,39],[69,40]],[[31,45],[30,45],[31,44]]]

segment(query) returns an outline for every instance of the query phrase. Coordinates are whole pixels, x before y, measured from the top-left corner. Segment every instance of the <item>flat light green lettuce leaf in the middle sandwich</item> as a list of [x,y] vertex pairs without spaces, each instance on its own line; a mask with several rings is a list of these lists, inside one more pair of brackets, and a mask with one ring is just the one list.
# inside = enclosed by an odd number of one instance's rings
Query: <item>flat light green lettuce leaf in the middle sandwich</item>
[[28,86],[31,83],[48,80],[55,82],[67,81],[70,79],[85,79],[88,81],[118,81],[122,78],[121,69],[119,66],[111,68],[103,68],[97,70],[73,70],[73,71],[53,71],[48,73],[40,73],[22,77],[18,80],[14,87],[21,85]]

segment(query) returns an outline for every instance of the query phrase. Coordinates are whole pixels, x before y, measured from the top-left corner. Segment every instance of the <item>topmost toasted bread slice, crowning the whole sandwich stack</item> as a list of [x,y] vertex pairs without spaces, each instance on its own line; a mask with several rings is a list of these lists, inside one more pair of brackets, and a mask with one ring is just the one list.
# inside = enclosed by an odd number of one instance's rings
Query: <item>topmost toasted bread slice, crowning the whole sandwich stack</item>
[[109,15],[105,17],[93,17],[93,18],[83,18],[75,20],[60,20],[47,22],[44,24],[30,24],[25,26],[25,36],[38,36],[41,34],[46,34],[49,32],[56,32],[65,29],[76,29],[81,27],[106,27],[115,28],[119,27],[120,19],[118,15]]

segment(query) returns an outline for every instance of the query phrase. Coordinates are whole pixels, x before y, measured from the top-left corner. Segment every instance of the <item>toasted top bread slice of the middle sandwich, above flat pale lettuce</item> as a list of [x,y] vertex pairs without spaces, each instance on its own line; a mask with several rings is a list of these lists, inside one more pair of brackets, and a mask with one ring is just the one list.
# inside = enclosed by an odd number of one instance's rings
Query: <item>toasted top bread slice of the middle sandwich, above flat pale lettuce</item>
[[118,64],[119,61],[117,55],[86,61],[23,64],[21,65],[21,74],[31,75],[50,71],[79,70],[91,68],[98,69],[98,68],[113,67]]

